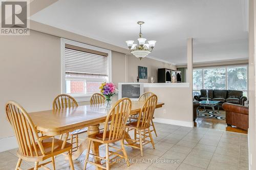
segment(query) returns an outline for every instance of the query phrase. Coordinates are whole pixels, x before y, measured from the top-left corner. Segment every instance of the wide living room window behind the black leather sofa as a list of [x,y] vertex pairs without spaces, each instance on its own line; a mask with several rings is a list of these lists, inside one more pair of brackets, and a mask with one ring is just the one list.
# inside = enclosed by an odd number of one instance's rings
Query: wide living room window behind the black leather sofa
[[193,70],[193,95],[201,89],[241,90],[247,96],[247,65],[196,68]]

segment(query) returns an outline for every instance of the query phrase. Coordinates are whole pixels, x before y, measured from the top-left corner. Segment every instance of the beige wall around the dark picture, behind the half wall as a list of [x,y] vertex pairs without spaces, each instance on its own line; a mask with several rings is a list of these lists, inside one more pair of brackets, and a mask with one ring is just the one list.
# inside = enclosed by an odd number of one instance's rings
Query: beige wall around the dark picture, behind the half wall
[[172,64],[167,64],[150,58],[143,58],[140,60],[134,56],[129,55],[127,56],[128,82],[137,82],[138,66],[147,67],[147,79],[140,79],[139,82],[141,83],[150,83],[151,77],[155,77],[155,82],[157,82],[158,68],[169,68],[176,70],[176,66]]

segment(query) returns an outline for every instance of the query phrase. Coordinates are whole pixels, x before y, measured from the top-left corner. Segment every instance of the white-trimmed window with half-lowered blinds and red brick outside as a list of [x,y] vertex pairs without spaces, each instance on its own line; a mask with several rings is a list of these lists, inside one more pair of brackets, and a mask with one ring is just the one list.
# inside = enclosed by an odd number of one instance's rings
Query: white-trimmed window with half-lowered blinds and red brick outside
[[111,51],[66,39],[61,50],[63,93],[88,101],[101,83],[111,81]]

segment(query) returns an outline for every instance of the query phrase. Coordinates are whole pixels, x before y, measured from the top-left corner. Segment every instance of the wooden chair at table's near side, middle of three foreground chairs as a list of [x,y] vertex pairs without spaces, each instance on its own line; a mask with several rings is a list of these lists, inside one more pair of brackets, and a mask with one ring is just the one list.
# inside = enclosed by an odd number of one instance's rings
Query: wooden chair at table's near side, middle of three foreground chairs
[[[113,159],[116,159],[117,157],[124,158],[127,165],[130,166],[129,160],[124,148],[123,140],[125,135],[124,133],[125,125],[129,117],[129,114],[131,112],[131,107],[132,107],[132,102],[128,98],[122,98],[119,101],[117,101],[116,104],[110,109],[108,115],[106,116],[104,131],[88,136],[88,148],[87,148],[87,154],[86,154],[85,164],[83,168],[84,170],[86,169],[88,162],[103,169],[110,169],[110,165],[115,163],[115,161],[113,162],[111,161]],[[108,123],[110,123],[109,129],[107,128]],[[121,142],[121,149],[110,145],[110,143],[114,143],[117,141]],[[92,142],[105,144],[105,148],[106,148],[105,157],[95,156],[94,154],[90,153]],[[109,151],[109,147],[117,151],[115,152]],[[122,152],[123,155],[121,155],[120,152]],[[96,160],[97,158],[105,161],[102,164],[98,164],[97,162],[92,162],[88,160],[89,155],[94,156],[95,158],[94,160]],[[114,156],[114,157],[110,159],[111,156]],[[103,166],[103,164],[106,164],[106,165]]]

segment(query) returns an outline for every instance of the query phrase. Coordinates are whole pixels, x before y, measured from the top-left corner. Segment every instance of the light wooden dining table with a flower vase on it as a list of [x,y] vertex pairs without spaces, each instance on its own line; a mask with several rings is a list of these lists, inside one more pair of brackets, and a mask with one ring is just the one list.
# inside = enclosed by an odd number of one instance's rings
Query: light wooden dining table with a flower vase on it
[[[131,115],[140,112],[144,102],[132,101]],[[161,108],[164,103],[157,103],[156,108]],[[99,125],[105,122],[106,115],[110,108],[104,104],[84,105],[65,109],[46,110],[29,113],[36,130],[44,136],[57,136],[65,134],[62,147],[65,146],[69,133],[88,127],[88,135],[98,133]],[[125,132],[125,138],[131,138]],[[130,140],[127,140],[131,144]],[[83,140],[72,154],[72,159],[77,159],[87,149],[87,140]],[[99,143],[93,144],[93,153],[99,156]],[[97,161],[97,160],[96,160]]]

